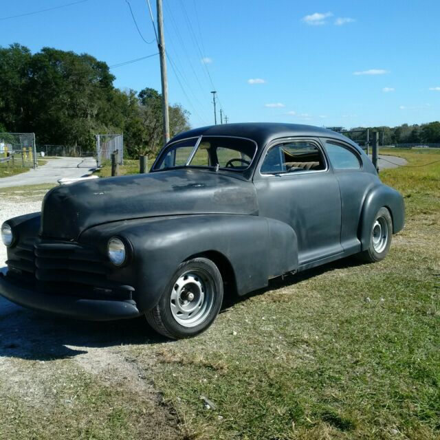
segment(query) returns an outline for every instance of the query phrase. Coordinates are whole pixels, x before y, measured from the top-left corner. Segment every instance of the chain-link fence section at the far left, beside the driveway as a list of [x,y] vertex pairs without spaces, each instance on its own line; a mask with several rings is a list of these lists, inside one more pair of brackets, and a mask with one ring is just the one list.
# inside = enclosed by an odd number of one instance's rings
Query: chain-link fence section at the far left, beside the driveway
[[1,133],[0,132],[0,166],[36,168],[34,133]]

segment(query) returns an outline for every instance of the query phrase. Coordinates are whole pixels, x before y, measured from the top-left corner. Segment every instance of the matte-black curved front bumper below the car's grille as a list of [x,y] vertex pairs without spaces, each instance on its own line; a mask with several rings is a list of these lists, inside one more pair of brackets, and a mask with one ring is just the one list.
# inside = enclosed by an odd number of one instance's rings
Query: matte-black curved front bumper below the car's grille
[[65,296],[63,293],[44,294],[11,283],[1,273],[0,295],[23,307],[79,320],[111,321],[141,315],[134,300],[85,299]]

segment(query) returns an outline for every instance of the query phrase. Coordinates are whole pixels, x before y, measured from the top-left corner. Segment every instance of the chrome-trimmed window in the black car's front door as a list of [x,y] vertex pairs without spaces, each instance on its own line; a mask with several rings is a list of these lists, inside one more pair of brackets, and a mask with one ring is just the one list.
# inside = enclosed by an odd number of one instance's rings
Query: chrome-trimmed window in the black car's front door
[[325,170],[325,160],[313,142],[285,142],[267,151],[261,174],[301,173]]

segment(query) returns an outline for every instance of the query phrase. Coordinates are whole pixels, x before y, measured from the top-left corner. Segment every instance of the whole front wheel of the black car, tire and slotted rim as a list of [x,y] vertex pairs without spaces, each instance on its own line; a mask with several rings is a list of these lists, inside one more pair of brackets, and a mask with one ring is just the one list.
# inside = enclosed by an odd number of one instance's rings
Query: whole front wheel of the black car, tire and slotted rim
[[146,320],[167,338],[189,338],[210,327],[222,301],[223,282],[217,266],[205,258],[192,259],[177,267]]

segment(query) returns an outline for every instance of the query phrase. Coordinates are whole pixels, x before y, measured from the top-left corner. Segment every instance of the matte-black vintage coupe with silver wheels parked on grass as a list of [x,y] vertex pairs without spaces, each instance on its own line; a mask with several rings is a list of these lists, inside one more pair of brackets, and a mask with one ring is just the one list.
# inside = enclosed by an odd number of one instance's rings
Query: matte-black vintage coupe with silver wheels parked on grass
[[169,338],[216,318],[225,292],[357,254],[384,259],[404,202],[333,131],[225,124],[187,131],[151,173],[58,186],[1,234],[0,294],[84,320],[145,315]]

